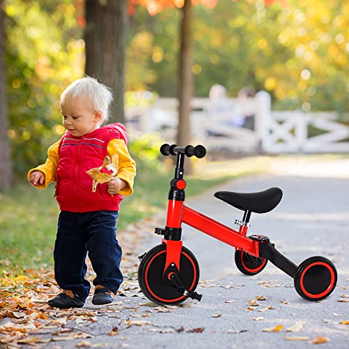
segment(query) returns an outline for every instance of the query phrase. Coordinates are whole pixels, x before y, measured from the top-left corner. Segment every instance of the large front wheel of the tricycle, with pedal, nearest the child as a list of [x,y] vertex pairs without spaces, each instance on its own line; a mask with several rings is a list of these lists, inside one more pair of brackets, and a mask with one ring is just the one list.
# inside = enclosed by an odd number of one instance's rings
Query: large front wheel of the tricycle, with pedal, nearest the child
[[[151,248],[138,267],[138,283],[144,295],[157,304],[179,304],[187,297],[182,295],[171,283],[163,280],[166,261],[166,245]],[[179,278],[186,290],[194,291],[200,277],[198,261],[195,255],[182,246],[179,261]]]

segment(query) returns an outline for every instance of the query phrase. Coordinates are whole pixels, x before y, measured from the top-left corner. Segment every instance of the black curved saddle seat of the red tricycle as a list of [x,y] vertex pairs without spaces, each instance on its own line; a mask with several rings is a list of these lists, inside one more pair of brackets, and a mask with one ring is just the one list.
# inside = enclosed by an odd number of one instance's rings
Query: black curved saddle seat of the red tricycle
[[217,191],[214,196],[227,202],[229,205],[242,209],[243,211],[252,211],[258,214],[272,211],[283,197],[280,188],[269,188],[258,193],[234,193],[233,191]]

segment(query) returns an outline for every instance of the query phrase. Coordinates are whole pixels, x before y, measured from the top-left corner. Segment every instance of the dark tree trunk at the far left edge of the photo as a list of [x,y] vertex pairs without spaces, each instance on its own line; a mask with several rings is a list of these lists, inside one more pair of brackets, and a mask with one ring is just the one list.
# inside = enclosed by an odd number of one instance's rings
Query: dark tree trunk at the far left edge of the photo
[[8,114],[5,79],[5,34],[3,30],[3,0],[0,0],[0,191],[10,188],[12,181],[10,144],[8,142]]

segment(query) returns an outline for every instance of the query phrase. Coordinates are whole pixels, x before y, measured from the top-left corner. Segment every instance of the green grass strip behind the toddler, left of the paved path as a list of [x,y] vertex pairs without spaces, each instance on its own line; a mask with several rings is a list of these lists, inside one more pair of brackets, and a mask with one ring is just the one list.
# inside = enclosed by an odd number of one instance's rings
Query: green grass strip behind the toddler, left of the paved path
[[[156,170],[138,170],[134,193],[124,198],[118,219],[118,232],[129,223],[152,216],[165,207],[172,171],[168,174]],[[187,196],[231,179],[227,175],[214,179],[191,177],[186,179]],[[20,275],[25,269],[52,267],[53,247],[57,231],[59,207],[53,198],[52,184],[45,191],[18,184],[6,193],[0,193],[0,276]]]

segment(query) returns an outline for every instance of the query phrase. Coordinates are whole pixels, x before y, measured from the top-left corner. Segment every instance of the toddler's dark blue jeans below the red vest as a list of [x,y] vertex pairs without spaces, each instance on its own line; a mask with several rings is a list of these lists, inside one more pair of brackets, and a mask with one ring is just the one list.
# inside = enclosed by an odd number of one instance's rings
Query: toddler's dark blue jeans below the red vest
[[117,293],[123,281],[117,217],[118,211],[61,211],[54,244],[54,277],[60,288],[72,290],[82,301],[87,299],[91,288],[85,279],[88,251],[96,272],[94,285]]

